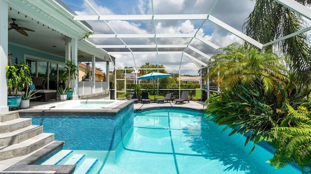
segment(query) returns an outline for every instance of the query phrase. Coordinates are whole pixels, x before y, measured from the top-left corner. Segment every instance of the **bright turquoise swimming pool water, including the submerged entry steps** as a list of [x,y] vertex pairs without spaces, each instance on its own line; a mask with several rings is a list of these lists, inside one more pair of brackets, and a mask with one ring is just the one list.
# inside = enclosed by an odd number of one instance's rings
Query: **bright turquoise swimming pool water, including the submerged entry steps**
[[75,174],[301,174],[292,166],[274,170],[265,162],[273,154],[260,146],[248,155],[245,137],[221,132],[202,112],[162,108],[134,116],[115,151],[65,149],[43,164],[76,164]]

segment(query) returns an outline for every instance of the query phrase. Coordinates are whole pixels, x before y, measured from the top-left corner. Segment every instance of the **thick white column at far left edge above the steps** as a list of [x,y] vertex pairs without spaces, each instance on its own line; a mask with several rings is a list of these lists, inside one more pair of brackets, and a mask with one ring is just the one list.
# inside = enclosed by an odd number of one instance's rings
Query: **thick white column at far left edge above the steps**
[[[5,66],[8,64],[8,4],[0,0],[0,83],[7,84]],[[9,112],[7,85],[0,85],[0,114]]]

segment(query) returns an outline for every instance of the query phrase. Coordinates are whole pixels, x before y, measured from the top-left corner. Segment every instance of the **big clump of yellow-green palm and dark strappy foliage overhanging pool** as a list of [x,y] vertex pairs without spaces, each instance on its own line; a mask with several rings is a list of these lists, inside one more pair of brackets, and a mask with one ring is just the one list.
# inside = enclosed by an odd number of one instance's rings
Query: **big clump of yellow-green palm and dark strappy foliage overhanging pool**
[[[286,71],[283,60],[270,51],[260,53],[236,43],[220,51],[222,53],[211,58],[206,78],[219,74],[217,82],[222,90],[206,101],[207,118],[218,125],[226,125],[225,130],[232,129],[229,135],[245,135],[245,145],[250,141],[254,144],[261,140],[272,142],[276,154],[270,163],[276,168],[296,161],[296,154],[282,156],[285,148],[280,148],[279,139],[284,136],[274,136],[284,133],[280,127],[289,123],[288,106],[298,107],[305,101],[306,87],[295,85],[294,76]],[[254,148],[255,145],[252,151]],[[297,164],[303,167],[308,162],[307,159]]]

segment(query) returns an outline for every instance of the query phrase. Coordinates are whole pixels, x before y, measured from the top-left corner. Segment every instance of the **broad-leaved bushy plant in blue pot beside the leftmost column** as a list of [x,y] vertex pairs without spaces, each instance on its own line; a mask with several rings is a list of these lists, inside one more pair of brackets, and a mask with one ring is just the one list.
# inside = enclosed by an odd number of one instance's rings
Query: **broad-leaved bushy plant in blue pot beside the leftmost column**
[[18,107],[21,102],[21,91],[27,84],[32,82],[30,67],[26,62],[20,62],[19,64],[11,64],[11,57],[9,54],[9,65],[5,67],[7,88],[8,88],[8,106],[9,108]]

